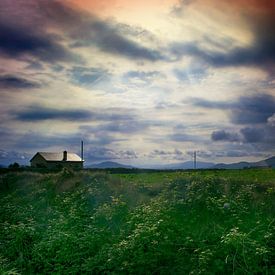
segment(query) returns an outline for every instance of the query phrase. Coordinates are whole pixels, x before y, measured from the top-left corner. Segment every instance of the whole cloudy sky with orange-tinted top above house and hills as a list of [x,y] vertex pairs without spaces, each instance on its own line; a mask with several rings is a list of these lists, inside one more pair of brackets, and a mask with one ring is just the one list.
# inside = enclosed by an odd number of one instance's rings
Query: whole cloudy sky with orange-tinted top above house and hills
[[1,0],[0,164],[275,155],[275,1]]

